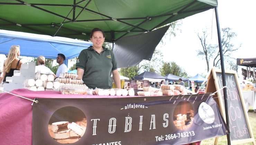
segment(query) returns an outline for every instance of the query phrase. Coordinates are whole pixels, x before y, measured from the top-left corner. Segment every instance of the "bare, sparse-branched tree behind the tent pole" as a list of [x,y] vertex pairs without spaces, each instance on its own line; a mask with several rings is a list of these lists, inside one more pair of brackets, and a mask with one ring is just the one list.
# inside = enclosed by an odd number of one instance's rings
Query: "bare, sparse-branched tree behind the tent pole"
[[[239,47],[236,47],[233,45],[232,40],[236,38],[237,34],[235,32],[232,32],[231,28],[222,28],[222,51],[223,51],[223,58],[228,61],[231,58],[231,52],[238,50],[241,47],[241,44]],[[202,50],[198,50],[198,56],[201,56],[205,59],[207,63],[207,70],[209,71],[209,62],[210,59],[213,58],[213,66],[219,67],[220,66],[220,52],[219,45],[212,45],[210,41],[208,40],[207,30],[203,30],[202,36],[197,33],[197,36],[201,42]]]

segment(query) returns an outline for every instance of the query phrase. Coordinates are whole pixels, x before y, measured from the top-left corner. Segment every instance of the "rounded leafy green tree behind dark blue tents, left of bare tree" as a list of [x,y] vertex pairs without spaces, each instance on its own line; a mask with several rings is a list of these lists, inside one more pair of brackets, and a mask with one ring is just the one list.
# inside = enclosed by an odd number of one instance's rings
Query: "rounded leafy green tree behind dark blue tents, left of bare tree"
[[188,77],[188,74],[186,73],[186,71],[180,67],[179,65],[177,65],[174,61],[170,62],[163,62],[163,66],[161,68],[161,75],[165,76],[168,74],[172,74],[175,76],[180,76],[180,77]]

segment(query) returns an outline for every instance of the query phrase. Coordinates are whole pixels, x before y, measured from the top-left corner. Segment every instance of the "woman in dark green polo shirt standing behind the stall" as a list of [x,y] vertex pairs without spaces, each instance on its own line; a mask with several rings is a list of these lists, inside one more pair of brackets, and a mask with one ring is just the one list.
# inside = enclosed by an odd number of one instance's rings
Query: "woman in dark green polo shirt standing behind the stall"
[[121,88],[115,56],[111,50],[102,46],[105,33],[99,28],[94,28],[90,39],[93,46],[82,50],[76,61],[77,79],[83,79],[89,88],[110,89],[112,73],[117,88]]

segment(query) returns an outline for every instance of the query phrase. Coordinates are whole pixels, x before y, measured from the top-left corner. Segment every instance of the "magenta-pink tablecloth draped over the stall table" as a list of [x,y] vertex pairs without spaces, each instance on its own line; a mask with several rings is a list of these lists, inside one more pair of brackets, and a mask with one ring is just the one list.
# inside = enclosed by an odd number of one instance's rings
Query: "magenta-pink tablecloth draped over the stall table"
[[[59,91],[31,91],[16,89],[11,93],[34,100],[35,98],[99,98],[93,95],[62,95]],[[110,96],[100,96],[109,98]],[[111,96],[127,97],[127,96]],[[136,96],[137,97],[137,96]],[[0,144],[32,144],[33,102],[8,93],[0,94]]]

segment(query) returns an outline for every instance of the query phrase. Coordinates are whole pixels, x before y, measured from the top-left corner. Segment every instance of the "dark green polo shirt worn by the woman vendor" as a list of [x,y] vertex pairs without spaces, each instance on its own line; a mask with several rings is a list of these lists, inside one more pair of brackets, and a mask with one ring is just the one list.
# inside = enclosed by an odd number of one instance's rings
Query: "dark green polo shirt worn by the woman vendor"
[[103,47],[99,54],[90,46],[80,52],[76,68],[84,69],[83,81],[89,88],[112,88],[111,73],[117,69],[117,61],[111,50]]

